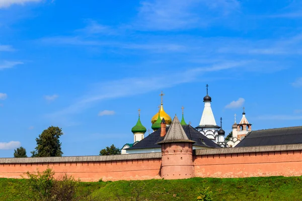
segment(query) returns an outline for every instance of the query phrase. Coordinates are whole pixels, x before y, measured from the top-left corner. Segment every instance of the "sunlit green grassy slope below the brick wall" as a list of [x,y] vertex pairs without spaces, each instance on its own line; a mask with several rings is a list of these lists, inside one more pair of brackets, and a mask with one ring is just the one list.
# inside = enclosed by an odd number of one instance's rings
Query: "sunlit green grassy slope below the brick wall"
[[[209,186],[214,200],[302,200],[302,177],[191,178],[81,183],[100,200],[129,200],[133,189],[143,189],[147,200],[196,200],[198,188]],[[0,179],[0,200],[26,200],[25,179]],[[124,200],[124,199],[123,199]]]

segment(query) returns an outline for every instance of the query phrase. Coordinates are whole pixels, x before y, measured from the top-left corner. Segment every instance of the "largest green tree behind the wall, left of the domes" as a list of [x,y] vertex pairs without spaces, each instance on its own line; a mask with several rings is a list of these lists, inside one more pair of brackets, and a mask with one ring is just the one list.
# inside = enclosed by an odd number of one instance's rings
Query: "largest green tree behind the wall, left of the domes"
[[32,151],[32,157],[49,157],[49,156],[62,156],[60,136],[63,135],[59,127],[48,127],[44,130],[39,138],[36,138],[36,150]]

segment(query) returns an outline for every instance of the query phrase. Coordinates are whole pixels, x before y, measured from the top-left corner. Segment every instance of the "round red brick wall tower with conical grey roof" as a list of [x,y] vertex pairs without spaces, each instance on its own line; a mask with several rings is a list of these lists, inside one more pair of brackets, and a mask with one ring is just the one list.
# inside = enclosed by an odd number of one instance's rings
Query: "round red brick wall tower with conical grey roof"
[[192,145],[178,118],[175,116],[162,145],[162,178],[181,179],[194,176]]

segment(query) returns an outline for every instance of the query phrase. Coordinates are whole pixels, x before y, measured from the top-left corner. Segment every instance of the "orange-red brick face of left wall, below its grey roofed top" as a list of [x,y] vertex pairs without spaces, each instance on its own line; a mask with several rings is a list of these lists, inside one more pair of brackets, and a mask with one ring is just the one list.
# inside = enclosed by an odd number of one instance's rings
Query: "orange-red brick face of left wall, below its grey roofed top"
[[135,159],[101,162],[19,163],[0,164],[0,177],[21,178],[25,172],[49,166],[56,174],[68,173],[81,181],[142,180],[161,178],[161,159]]

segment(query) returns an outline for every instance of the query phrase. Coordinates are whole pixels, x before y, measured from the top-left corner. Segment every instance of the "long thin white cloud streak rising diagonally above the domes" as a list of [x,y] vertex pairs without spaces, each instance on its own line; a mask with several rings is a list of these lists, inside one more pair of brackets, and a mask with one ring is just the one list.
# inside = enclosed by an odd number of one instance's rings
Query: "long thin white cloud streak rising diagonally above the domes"
[[[219,65],[192,68],[186,71],[170,73],[168,76],[150,76],[150,77],[133,77],[103,82],[95,84],[89,94],[79,98],[79,101],[71,104],[69,107],[57,111],[48,117],[56,118],[64,115],[81,113],[94,103],[106,99],[119,98],[134,94],[147,93],[149,91],[160,90],[172,87],[181,83],[194,82],[203,73],[226,70],[241,67],[246,64],[244,61],[230,62]],[[154,85],[153,83],[158,83]]]

